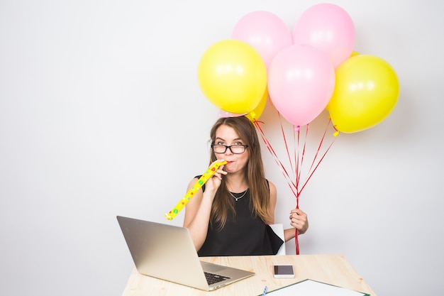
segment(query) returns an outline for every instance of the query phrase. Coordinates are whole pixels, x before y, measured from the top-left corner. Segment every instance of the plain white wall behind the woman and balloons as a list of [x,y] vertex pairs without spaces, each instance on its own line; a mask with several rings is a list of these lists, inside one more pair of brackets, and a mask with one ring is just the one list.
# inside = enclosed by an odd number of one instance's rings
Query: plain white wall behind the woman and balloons
[[[218,110],[196,79],[201,54],[246,13],[292,29],[316,3],[1,1],[0,294],[121,295],[133,262],[116,215],[171,223],[163,214],[208,163]],[[438,295],[444,5],[334,3],[355,22],[355,50],[387,60],[401,94],[382,124],[336,138],[301,196],[301,253],[343,253],[378,295]],[[283,148],[271,106],[261,120]],[[294,197],[264,158],[287,223]]]

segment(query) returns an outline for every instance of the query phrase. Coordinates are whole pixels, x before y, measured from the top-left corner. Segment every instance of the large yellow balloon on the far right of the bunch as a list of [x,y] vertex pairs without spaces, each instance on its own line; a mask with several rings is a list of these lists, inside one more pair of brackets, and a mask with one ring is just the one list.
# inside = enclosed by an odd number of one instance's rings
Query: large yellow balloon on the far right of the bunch
[[328,111],[338,131],[355,133],[389,116],[398,97],[398,77],[388,62],[374,55],[355,55],[336,69]]

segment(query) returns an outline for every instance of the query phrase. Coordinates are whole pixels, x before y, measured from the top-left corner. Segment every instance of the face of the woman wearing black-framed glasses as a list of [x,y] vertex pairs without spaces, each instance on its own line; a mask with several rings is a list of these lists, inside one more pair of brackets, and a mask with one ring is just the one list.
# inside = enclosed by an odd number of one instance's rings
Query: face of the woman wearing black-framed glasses
[[[238,133],[233,128],[226,125],[221,125],[216,130],[216,139],[214,145],[245,145],[245,142],[239,137]],[[224,169],[226,172],[240,172],[248,163],[248,149],[243,153],[233,153],[231,149],[226,149],[225,153],[214,153],[217,159],[227,161]]]

